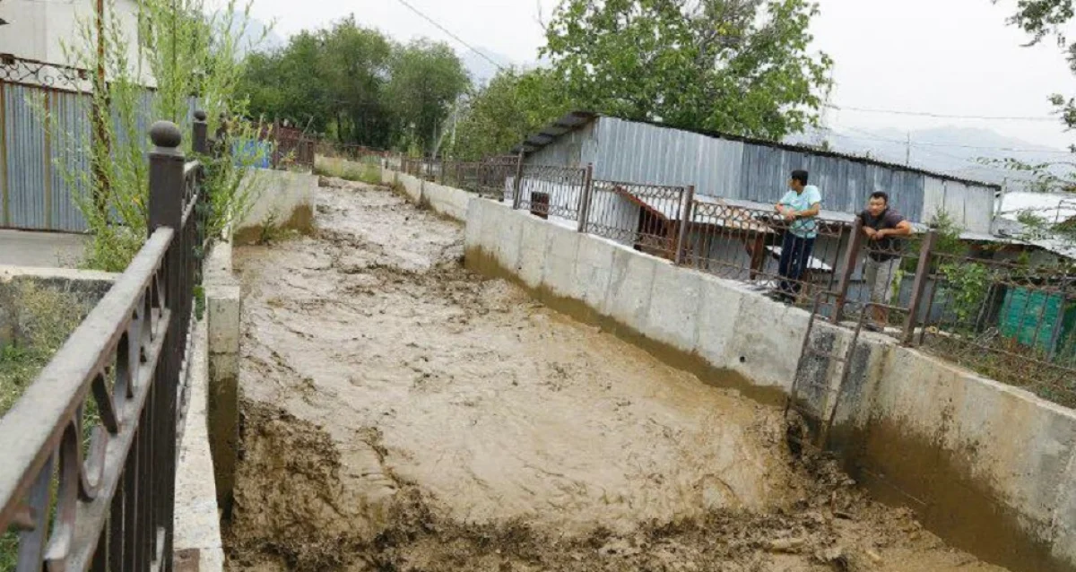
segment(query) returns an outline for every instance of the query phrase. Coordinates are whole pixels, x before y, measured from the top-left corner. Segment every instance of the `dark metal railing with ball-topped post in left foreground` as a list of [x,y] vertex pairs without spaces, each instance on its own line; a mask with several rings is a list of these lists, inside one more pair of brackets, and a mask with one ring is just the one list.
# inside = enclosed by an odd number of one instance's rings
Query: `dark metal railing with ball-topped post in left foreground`
[[[194,149],[208,149],[203,113]],[[148,239],[0,418],[0,530],[17,570],[172,569],[178,425],[204,244],[202,165],[150,130]]]

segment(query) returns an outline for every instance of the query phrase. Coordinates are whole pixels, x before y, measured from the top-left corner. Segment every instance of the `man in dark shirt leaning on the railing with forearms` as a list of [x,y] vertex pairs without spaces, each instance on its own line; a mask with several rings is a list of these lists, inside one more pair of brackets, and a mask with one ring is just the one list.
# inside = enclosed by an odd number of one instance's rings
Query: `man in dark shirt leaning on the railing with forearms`
[[[870,291],[870,301],[888,304],[893,288],[893,277],[901,266],[901,241],[911,234],[911,224],[889,206],[889,195],[877,191],[870,195],[867,209],[860,213],[863,233],[867,238],[867,257],[863,263],[863,277]],[[880,330],[889,323],[889,310],[874,308],[875,324],[868,329]]]

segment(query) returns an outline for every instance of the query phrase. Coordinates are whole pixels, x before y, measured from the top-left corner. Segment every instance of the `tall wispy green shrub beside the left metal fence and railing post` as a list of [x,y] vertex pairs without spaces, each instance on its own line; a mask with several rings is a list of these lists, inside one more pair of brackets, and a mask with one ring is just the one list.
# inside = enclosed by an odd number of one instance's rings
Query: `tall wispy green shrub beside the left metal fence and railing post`
[[[111,272],[123,271],[146,237],[150,172],[145,149],[150,143],[145,124],[167,119],[179,125],[183,149],[189,154],[192,96],[208,113],[211,132],[223,127],[225,115],[246,112],[245,99],[236,96],[242,72],[237,54],[244,32],[237,22],[246,22],[250,4],[240,12],[236,0],[230,0],[212,16],[207,15],[203,0],[140,0],[139,10],[137,39],[127,37],[123,16],[110,0],[100,38],[103,51],[98,52],[94,19],[80,22],[73,42],[63,45],[74,66],[103,69],[108,78],[104,84],[95,80],[90,91],[93,109],[102,112],[95,115],[89,142],[77,133],[57,131],[44,106],[37,105],[53,139],[68,147],[66,156],[89,158],[88,171],[77,160],[57,163],[72,188],[85,189],[73,197],[93,237],[84,266]],[[145,88],[151,78],[155,94]],[[238,123],[224,131],[231,139],[254,135],[253,126]],[[202,158],[209,163],[204,188],[212,204],[211,235],[220,235],[241,216],[255,191],[245,174],[259,157],[237,158],[224,148],[221,157]]]

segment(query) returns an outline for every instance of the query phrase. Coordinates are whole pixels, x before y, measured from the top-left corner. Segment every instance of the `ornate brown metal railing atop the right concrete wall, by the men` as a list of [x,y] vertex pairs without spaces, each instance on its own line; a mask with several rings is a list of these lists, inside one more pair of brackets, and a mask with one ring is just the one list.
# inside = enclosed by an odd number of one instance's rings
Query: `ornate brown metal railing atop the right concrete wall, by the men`
[[[858,216],[785,220],[768,206],[695,198],[693,186],[596,181],[590,166],[504,162],[516,168],[498,175],[514,209],[576,220],[580,232],[804,306],[824,299],[818,312],[834,324],[870,327],[1076,406],[1074,267],[1031,271],[954,257],[936,252],[936,230],[878,242]],[[472,165],[404,160],[410,174],[459,186],[469,185]],[[812,248],[803,256],[797,239],[807,237]]]

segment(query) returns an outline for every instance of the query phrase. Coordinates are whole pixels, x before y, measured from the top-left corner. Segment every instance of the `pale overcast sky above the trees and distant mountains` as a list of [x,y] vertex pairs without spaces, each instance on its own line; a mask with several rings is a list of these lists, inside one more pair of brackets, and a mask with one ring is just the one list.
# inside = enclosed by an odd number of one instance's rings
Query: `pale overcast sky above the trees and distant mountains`
[[[539,14],[556,0],[406,0],[467,43],[511,57],[537,58]],[[1047,97],[1076,94],[1057,45],[1021,47],[1005,25],[1015,0],[820,0],[812,23],[817,49],[836,61],[833,103],[946,115],[1047,116]],[[354,13],[399,40],[428,37],[458,44],[400,0],[254,0],[254,15],[289,35]],[[987,127],[1030,143],[1076,142],[1054,123],[965,120],[831,111],[833,128]]]

